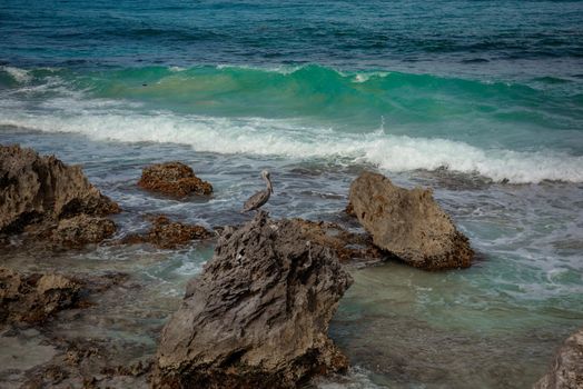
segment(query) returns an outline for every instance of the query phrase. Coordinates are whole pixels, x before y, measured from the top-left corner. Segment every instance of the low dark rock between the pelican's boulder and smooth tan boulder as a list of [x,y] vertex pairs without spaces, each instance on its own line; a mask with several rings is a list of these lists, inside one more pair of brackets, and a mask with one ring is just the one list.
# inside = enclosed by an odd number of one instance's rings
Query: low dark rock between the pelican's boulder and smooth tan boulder
[[340,226],[326,221],[293,219],[306,239],[336,251],[340,261],[381,260],[383,252],[373,245],[367,235],[353,233]]

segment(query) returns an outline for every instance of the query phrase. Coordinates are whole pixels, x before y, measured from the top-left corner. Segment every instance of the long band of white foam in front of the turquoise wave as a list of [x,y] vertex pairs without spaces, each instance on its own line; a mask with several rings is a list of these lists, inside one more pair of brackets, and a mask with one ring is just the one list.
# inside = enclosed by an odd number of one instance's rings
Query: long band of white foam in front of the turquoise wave
[[[60,106],[65,106],[62,101]],[[302,127],[289,120],[227,119],[168,112],[140,114],[131,110],[99,109],[109,107],[102,101],[95,102],[91,108],[75,107],[69,111],[59,110],[58,114],[52,110],[52,113],[4,110],[0,111],[0,124],[83,133],[98,140],[182,143],[197,151],[365,162],[388,171],[446,167],[514,183],[542,180],[583,182],[583,157],[551,150],[484,150],[460,141],[391,136],[383,131],[340,133]]]

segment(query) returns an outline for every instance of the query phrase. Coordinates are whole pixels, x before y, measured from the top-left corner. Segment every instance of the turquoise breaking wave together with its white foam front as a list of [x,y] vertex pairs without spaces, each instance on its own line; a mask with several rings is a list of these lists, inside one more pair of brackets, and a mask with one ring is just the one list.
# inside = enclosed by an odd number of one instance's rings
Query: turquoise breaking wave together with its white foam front
[[[322,66],[4,67],[0,124],[197,151],[583,180],[577,82],[532,84]],[[538,86],[537,83],[542,83]]]

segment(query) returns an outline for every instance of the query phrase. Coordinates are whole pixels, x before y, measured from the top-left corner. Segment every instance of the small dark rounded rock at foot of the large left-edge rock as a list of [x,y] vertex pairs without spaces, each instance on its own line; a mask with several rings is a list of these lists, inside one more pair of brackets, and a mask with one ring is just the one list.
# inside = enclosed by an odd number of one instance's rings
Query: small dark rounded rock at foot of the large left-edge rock
[[99,243],[116,232],[116,223],[106,218],[79,215],[59,222],[52,230],[51,240],[68,247],[81,247],[88,243]]

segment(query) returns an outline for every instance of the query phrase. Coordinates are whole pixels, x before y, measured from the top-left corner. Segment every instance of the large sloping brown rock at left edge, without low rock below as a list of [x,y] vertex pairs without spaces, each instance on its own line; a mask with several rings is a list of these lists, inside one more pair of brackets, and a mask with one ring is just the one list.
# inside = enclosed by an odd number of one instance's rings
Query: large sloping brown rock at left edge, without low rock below
[[0,233],[81,213],[115,212],[118,205],[90,184],[80,167],[32,149],[0,146]]

